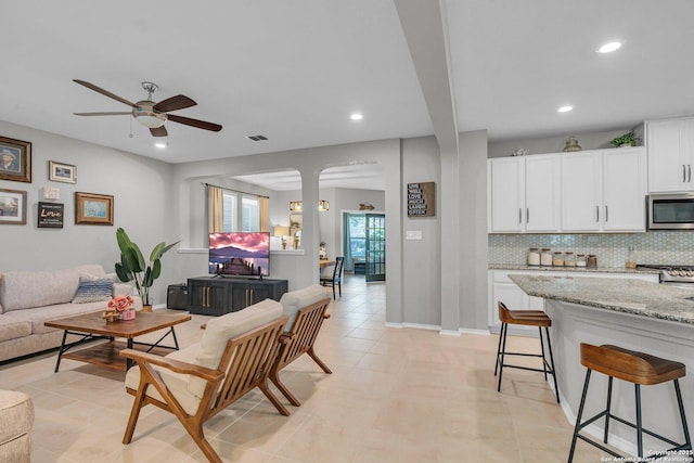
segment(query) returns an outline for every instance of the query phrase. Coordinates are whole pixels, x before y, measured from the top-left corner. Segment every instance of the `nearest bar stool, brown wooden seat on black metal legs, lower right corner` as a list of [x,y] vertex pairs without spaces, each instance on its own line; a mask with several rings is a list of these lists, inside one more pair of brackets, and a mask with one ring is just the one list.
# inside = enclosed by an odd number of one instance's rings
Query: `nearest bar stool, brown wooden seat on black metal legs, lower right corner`
[[[652,458],[661,458],[667,456],[669,452],[679,451],[679,450],[692,450],[692,441],[690,439],[690,430],[686,426],[686,416],[684,415],[684,406],[682,404],[682,394],[680,391],[680,382],[679,378],[683,377],[685,374],[685,366],[683,363],[674,362],[671,360],[660,359],[658,357],[650,356],[647,353],[638,352],[634,350],[622,349],[617,346],[592,346],[590,344],[581,343],[581,364],[588,369],[586,372],[586,383],[583,384],[583,394],[581,396],[581,402],[578,407],[578,416],[576,417],[576,427],[574,428],[574,439],[571,440],[571,449],[568,454],[569,463],[574,459],[574,451],[576,450],[576,440],[581,439],[586,442],[597,447],[604,452],[609,453],[613,456],[617,456],[624,459],[624,455],[620,455],[613,450],[606,448],[602,443],[592,440],[583,435],[580,435],[579,432],[593,423],[601,417],[605,417],[605,434],[603,438],[603,442],[607,443],[607,435],[609,433],[609,421],[616,420],[619,423],[626,424],[627,426],[633,427],[637,429],[637,446],[639,449],[639,458],[643,458],[643,433],[653,436],[664,442],[667,442],[671,446],[674,446],[670,450],[666,450],[663,452],[651,452],[648,455],[648,461]],[[586,404],[586,396],[588,395],[588,384],[590,383],[591,372],[595,370],[600,373],[606,374],[609,376],[607,381],[607,406],[606,409],[602,412],[597,413],[595,416],[586,420],[581,423],[581,416],[583,414],[583,406]],[[612,402],[612,381],[613,377],[618,380],[622,380],[629,383],[634,384],[635,388],[635,397],[637,397],[637,424],[630,423],[626,420],[622,420],[618,416],[615,416],[611,413],[609,407]],[[670,440],[666,437],[657,435],[651,430],[644,429],[642,426],[642,415],[641,415],[641,385],[654,385],[660,384],[668,381],[672,381],[674,383],[674,394],[677,395],[677,402],[680,408],[680,419],[682,420],[682,429],[684,430],[684,443],[678,443],[673,440]],[[659,453],[659,455],[658,455]]]

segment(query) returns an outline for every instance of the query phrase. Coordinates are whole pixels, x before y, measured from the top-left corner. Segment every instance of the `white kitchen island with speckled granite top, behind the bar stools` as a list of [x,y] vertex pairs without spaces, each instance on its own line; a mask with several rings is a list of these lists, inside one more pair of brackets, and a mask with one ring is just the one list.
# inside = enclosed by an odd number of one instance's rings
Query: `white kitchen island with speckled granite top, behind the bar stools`
[[[530,296],[544,299],[552,318],[550,336],[554,349],[562,408],[575,423],[586,369],[580,364],[580,343],[613,344],[647,352],[687,366],[680,382],[690,423],[694,421],[694,288],[627,279],[594,279],[545,275],[511,275],[511,280]],[[584,416],[604,408],[607,378],[594,374]],[[673,440],[681,440],[674,390],[671,383],[642,388],[644,427]],[[615,381],[613,410],[618,416],[634,420],[633,385]],[[603,421],[587,428],[602,436]],[[609,442],[635,454],[635,432],[612,425]],[[566,448],[568,449],[568,443]],[[663,449],[647,438],[644,449]]]

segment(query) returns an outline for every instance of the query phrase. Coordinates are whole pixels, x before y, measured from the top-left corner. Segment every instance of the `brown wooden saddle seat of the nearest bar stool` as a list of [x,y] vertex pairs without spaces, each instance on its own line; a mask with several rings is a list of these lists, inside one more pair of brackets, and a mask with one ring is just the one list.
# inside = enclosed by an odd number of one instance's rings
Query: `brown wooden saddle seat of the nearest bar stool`
[[684,363],[611,345],[581,344],[581,364],[607,376],[644,386],[677,380],[686,373]]

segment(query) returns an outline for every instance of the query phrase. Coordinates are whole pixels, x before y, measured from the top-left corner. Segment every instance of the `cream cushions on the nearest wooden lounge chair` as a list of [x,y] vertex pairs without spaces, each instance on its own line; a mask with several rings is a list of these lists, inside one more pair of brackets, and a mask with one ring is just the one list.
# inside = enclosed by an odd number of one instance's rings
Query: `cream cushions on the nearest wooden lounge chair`
[[[265,299],[237,312],[227,313],[209,320],[200,343],[176,350],[166,357],[215,370],[219,366],[229,339],[280,317],[282,317],[282,305],[272,299]],[[183,410],[187,413],[195,414],[205,391],[206,382],[196,376],[174,373],[162,368],[156,368],[156,370],[162,375],[166,387],[169,388],[181,407],[183,407]],[[126,387],[137,390],[139,385],[140,368],[134,366],[128,370]],[[153,386],[147,387],[147,396],[164,401]]]

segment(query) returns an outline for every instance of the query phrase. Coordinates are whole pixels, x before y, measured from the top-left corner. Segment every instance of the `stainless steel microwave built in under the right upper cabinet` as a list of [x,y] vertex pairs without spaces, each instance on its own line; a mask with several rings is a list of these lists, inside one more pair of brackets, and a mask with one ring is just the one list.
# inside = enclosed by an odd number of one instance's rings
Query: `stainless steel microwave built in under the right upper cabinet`
[[656,193],[647,201],[648,230],[694,229],[694,193]]

